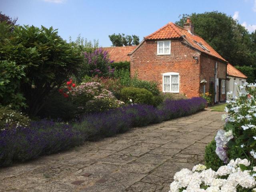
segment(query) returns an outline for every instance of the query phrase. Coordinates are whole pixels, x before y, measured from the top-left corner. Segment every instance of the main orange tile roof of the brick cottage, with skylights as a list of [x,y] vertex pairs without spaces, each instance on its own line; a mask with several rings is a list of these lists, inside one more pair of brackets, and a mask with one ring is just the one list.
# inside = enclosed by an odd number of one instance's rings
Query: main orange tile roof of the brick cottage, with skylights
[[[183,37],[190,46],[196,48],[197,50],[204,52],[208,55],[214,56],[226,62],[220,54],[218,54],[205,40],[203,40],[200,36],[196,34],[191,34],[186,29],[169,22],[156,32],[145,37],[145,40],[153,40],[153,39],[171,39],[171,38],[180,38]],[[198,43],[201,43],[204,47],[206,47],[209,51],[204,50],[200,47]]]

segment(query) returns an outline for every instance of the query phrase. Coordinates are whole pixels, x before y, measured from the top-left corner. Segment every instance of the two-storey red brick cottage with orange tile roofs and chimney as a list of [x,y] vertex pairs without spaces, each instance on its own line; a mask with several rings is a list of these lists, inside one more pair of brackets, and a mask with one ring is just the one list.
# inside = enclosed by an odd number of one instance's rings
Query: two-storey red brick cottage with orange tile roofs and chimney
[[216,90],[214,101],[226,100],[228,62],[194,34],[190,18],[184,28],[169,22],[144,37],[138,46],[105,49],[116,62],[124,60],[121,55],[130,56],[131,77],[156,81],[163,92],[183,93],[191,98],[209,92],[212,84]]

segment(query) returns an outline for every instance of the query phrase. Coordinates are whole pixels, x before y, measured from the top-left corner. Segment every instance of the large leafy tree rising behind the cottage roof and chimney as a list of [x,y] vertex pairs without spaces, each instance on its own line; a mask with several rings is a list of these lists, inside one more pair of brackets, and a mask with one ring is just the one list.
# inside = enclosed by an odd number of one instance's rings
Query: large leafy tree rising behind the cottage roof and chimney
[[195,34],[206,40],[221,56],[233,65],[255,65],[249,32],[231,16],[217,11],[202,14],[183,14],[176,22],[183,26],[190,16]]

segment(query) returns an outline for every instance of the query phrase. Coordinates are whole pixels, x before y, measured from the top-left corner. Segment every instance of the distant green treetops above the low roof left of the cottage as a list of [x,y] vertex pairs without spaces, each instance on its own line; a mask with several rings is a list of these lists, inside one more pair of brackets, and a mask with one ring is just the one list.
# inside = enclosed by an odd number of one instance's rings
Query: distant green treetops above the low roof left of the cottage
[[126,35],[122,34],[112,34],[108,36],[110,41],[112,42],[112,46],[122,47],[122,46],[132,46],[138,45],[140,43],[140,38],[136,35]]

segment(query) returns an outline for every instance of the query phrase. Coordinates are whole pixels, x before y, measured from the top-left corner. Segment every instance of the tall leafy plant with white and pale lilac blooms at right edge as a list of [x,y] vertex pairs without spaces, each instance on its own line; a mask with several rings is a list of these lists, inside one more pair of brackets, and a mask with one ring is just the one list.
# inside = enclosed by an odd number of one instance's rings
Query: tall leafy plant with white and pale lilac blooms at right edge
[[215,138],[216,153],[225,162],[228,156],[231,159],[256,158],[256,84],[245,83],[238,92],[238,96],[227,101],[225,111],[228,114],[222,115],[226,124]]

